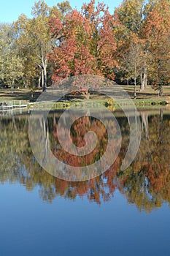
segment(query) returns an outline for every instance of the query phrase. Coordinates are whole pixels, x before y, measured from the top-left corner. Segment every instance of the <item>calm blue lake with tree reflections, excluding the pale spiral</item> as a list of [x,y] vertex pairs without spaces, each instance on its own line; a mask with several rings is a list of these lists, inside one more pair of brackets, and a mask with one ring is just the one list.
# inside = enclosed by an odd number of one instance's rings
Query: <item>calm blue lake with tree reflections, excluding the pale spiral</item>
[[[53,156],[78,167],[96,163],[107,148],[104,125],[89,116],[74,121],[75,146],[85,146],[89,129],[98,136],[96,148],[77,158],[58,142],[62,112],[51,112],[45,122]],[[131,165],[120,170],[130,129],[115,110],[120,152],[109,170],[80,182],[54,177],[39,165],[28,139],[28,113],[1,113],[0,255],[170,255],[170,110],[138,112],[141,143]],[[107,124],[115,133],[112,121]],[[32,136],[39,138],[39,130]]]

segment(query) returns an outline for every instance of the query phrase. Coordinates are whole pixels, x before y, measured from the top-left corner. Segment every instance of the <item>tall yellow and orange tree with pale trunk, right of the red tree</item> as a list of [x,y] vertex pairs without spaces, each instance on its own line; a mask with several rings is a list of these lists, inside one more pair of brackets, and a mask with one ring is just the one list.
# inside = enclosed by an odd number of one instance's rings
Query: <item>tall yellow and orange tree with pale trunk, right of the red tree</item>
[[[138,77],[141,90],[147,86],[147,69],[148,60],[150,59],[147,38],[142,34],[142,29],[151,8],[151,1],[124,0],[120,7],[115,10],[115,19],[119,21],[117,23],[116,38],[118,45],[117,59],[121,67],[120,76],[121,72],[124,72],[126,80],[131,80],[131,72],[129,72],[131,64],[127,60],[131,58],[131,53],[133,52],[131,45],[137,43],[139,45],[138,59],[140,63]],[[136,48],[134,48],[134,55],[135,51]]]

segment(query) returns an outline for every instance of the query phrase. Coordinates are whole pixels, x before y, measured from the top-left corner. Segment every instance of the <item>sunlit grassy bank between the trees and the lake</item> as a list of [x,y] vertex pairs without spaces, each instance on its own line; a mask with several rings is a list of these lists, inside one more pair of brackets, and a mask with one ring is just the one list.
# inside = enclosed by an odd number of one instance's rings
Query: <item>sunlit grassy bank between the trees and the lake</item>
[[[158,91],[154,91],[151,87],[148,86],[144,91],[139,91],[139,88],[136,90],[136,99],[134,99],[134,86],[122,86],[122,88],[128,92],[131,99],[134,101],[134,104],[137,107],[142,106],[158,106],[170,104],[170,86],[163,87],[163,95],[158,97]],[[19,102],[22,101],[22,104],[31,105],[31,102],[36,102],[36,99],[42,93],[41,90],[36,90],[32,95],[28,89],[15,89],[13,93],[10,89],[0,89],[0,103],[14,101],[16,105],[19,105]],[[55,108],[69,108],[70,105],[76,104],[77,107],[91,105],[95,106],[98,104],[102,105],[114,105],[117,107],[117,102],[110,102],[105,95],[90,94],[89,99],[85,97],[72,97],[69,100],[62,100],[60,102],[55,102]],[[120,105],[131,105],[131,100],[123,99],[120,102]]]

